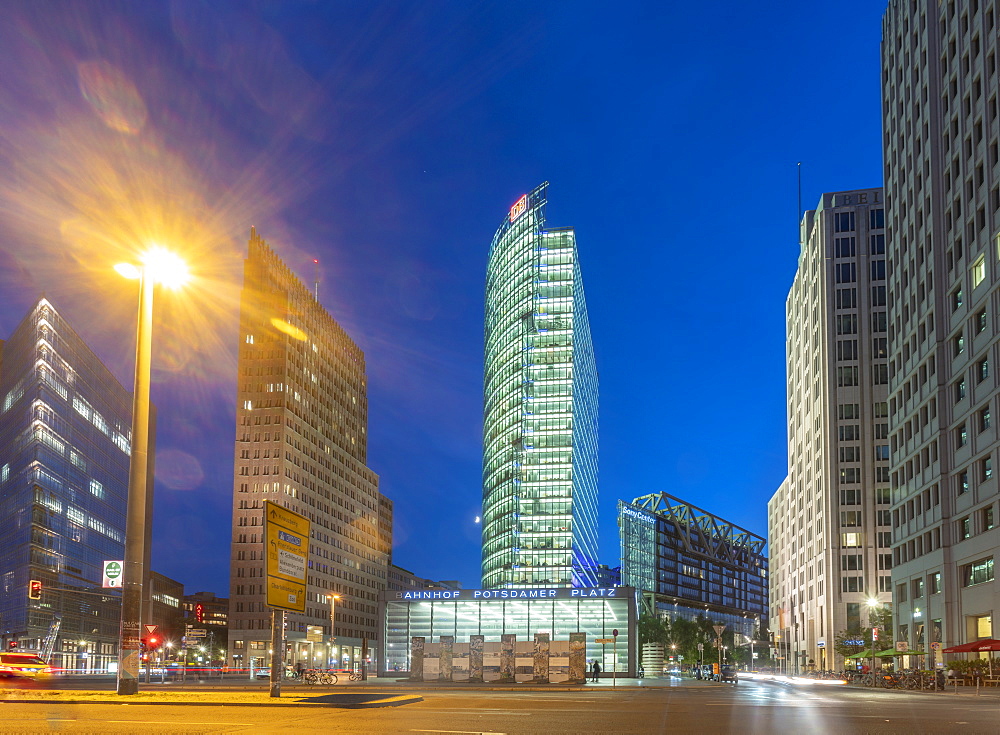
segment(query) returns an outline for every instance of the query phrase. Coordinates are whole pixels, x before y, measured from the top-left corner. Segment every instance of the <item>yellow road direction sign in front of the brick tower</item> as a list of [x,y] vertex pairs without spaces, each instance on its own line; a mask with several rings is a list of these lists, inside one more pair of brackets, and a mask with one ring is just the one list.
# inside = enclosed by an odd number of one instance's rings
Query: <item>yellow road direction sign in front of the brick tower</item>
[[264,501],[264,546],[268,606],[305,612],[309,519]]

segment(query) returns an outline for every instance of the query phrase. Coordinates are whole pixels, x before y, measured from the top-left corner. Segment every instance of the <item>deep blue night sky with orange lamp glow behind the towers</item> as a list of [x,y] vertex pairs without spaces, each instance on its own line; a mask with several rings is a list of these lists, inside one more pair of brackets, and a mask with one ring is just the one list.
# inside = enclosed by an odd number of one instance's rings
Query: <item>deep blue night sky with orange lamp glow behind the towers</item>
[[[0,2],[0,338],[46,293],[131,385],[161,294],[153,568],[228,590],[251,225],[364,349],[394,561],[479,586],[489,244],[551,182],[600,372],[600,551],[667,491],[755,533],[785,476],[784,302],[802,201],[881,184],[884,6]],[[180,245],[177,245],[180,243]]]

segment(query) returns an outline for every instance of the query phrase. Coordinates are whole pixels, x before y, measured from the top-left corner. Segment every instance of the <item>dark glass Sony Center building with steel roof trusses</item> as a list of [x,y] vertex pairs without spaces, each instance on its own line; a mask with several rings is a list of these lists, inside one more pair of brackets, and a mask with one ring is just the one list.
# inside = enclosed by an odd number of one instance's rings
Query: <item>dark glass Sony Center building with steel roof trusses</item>
[[618,501],[618,525],[622,583],[653,593],[661,614],[747,633],[754,620],[766,625],[763,538],[666,493]]

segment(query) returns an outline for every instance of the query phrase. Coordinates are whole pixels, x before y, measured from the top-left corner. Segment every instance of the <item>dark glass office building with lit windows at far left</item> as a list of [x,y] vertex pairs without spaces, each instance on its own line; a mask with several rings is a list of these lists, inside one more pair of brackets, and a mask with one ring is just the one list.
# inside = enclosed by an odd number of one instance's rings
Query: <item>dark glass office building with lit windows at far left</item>
[[[131,394],[42,299],[2,343],[0,633],[39,650],[54,619],[55,666],[117,662],[120,603],[101,592],[122,559]],[[42,582],[39,600],[28,581]]]

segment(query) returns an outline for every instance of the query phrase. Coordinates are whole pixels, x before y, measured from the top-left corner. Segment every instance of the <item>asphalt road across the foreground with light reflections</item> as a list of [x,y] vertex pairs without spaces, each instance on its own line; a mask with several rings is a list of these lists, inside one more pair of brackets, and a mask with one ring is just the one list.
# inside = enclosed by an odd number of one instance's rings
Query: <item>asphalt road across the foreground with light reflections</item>
[[[399,688],[386,690],[400,694]],[[370,692],[366,692],[370,693]],[[406,687],[422,702],[383,709],[0,703],[0,733],[1000,733],[1000,699],[685,682],[653,689],[456,691]]]

